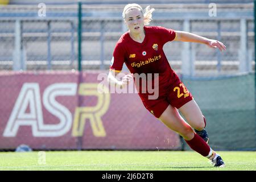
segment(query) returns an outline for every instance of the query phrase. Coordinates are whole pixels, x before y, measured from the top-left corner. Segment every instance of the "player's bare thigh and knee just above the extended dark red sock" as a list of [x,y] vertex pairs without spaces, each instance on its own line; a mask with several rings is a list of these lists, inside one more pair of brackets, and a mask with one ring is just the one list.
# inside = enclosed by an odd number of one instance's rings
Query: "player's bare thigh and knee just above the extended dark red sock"
[[194,137],[194,132],[191,126],[181,117],[174,106],[169,105],[163,114],[159,117],[169,129],[179,133],[185,140],[191,140]]

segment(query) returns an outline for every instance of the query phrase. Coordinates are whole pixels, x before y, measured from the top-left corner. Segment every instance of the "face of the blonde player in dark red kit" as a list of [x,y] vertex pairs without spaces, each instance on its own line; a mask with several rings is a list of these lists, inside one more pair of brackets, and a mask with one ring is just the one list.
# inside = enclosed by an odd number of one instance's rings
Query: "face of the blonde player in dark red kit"
[[131,33],[138,34],[144,30],[144,17],[142,12],[138,9],[127,11],[125,15],[125,23]]

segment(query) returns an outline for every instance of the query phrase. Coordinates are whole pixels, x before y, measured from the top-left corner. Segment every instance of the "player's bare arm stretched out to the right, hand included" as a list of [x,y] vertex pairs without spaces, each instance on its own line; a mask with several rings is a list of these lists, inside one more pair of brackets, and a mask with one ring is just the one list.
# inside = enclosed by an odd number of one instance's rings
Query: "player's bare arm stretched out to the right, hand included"
[[196,34],[185,32],[185,31],[175,31],[175,32],[176,32],[176,37],[174,39],[175,41],[201,43],[201,44],[206,44],[207,46],[212,48],[218,48],[220,49],[220,51],[226,50],[226,46],[218,40],[208,39],[203,36],[199,36]]

